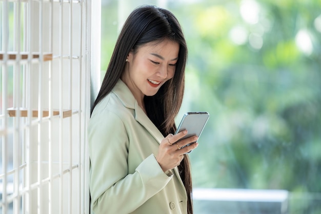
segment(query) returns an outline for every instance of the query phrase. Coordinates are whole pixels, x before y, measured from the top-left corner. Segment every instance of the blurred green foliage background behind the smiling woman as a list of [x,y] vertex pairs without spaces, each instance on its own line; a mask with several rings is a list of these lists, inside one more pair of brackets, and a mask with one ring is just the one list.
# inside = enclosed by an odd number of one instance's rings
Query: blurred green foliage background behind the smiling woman
[[[110,18],[117,17],[117,3],[107,2],[102,70],[117,36],[117,18]],[[321,213],[321,1],[253,2],[167,4],[189,47],[177,122],[186,111],[211,115],[190,154],[194,187],[286,189],[291,213]],[[243,18],[246,3],[256,6],[257,22]],[[106,28],[104,20],[113,24]],[[231,39],[233,29],[245,33],[242,44]],[[298,48],[302,30],[311,39],[310,53]]]

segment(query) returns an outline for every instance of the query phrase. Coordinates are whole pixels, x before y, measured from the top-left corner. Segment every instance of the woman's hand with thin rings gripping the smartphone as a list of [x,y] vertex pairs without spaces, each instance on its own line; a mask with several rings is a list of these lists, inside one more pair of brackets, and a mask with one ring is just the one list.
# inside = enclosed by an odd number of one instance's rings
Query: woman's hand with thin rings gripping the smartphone
[[[159,145],[156,161],[162,167],[163,171],[173,169],[180,164],[184,158],[184,154],[198,146],[197,136],[178,141],[187,134],[187,130],[181,131],[175,135],[169,134]],[[177,142],[178,141],[178,142]],[[190,144],[186,146],[187,144]],[[185,147],[184,147],[185,146]],[[182,148],[184,147],[184,148]]]

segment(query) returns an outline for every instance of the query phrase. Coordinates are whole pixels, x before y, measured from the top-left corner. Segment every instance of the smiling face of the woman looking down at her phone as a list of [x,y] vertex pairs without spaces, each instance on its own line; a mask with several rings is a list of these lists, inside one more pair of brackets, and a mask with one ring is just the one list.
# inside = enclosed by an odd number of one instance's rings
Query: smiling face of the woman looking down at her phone
[[122,80],[138,102],[143,101],[145,95],[155,95],[174,76],[178,52],[178,43],[164,40],[147,43],[128,54]]

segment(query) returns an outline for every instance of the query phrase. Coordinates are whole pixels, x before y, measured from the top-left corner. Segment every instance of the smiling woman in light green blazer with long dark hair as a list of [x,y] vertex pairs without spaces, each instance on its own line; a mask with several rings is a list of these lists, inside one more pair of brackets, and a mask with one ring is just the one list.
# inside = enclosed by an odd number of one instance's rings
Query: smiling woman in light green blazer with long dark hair
[[187,46],[175,16],[135,9],[116,42],[88,125],[91,213],[188,213],[186,152],[196,136],[175,132]]

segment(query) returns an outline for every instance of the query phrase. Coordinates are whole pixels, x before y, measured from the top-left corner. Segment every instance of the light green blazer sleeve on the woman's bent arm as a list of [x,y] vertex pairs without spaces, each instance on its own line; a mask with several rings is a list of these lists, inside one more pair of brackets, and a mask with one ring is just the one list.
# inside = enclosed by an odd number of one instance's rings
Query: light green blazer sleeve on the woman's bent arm
[[128,174],[128,135],[123,121],[113,112],[90,119],[91,208],[95,214],[126,214],[162,190],[172,178],[160,168],[153,154]]

